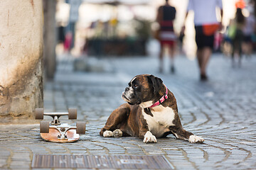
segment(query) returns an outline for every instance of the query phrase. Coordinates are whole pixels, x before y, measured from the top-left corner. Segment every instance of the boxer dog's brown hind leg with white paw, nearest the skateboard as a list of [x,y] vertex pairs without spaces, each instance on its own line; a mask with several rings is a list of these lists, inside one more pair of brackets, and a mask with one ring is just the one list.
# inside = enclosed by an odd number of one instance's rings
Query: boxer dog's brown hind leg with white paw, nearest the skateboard
[[[128,104],[123,104],[119,108],[115,109],[110,117],[107,119],[107,123],[100,130],[100,135],[103,137],[121,137],[121,132],[115,131],[119,130],[119,128],[124,125],[124,120],[127,120],[130,108],[127,107]],[[113,133],[114,131],[114,133]],[[118,134],[117,134],[118,133]]]

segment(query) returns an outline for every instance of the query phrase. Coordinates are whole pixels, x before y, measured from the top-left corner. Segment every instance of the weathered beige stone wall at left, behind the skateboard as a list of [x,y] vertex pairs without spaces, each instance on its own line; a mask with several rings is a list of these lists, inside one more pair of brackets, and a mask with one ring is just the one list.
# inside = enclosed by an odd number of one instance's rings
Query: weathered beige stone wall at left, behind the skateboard
[[0,0],[0,123],[26,123],[43,107],[43,3]]

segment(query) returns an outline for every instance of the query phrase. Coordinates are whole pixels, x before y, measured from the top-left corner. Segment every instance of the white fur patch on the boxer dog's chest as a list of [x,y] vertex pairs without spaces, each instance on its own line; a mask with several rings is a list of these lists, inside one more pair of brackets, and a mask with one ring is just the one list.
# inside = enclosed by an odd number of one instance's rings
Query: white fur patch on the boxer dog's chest
[[148,124],[149,131],[155,135],[156,137],[161,137],[165,132],[169,132],[169,126],[174,125],[174,110],[172,108],[163,106],[156,106],[158,108],[154,110],[159,111],[151,111],[153,117],[148,115],[142,109],[142,115],[144,115],[144,119]]

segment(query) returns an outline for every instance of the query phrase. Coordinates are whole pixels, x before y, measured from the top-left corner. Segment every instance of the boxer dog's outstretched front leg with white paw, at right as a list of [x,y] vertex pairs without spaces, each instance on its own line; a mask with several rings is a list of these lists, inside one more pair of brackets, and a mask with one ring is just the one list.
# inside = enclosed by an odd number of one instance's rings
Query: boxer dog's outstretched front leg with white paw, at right
[[193,135],[193,133],[184,130],[182,127],[178,128],[176,126],[169,128],[171,132],[180,140],[188,140],[191,143],[203,143],[202,137]]

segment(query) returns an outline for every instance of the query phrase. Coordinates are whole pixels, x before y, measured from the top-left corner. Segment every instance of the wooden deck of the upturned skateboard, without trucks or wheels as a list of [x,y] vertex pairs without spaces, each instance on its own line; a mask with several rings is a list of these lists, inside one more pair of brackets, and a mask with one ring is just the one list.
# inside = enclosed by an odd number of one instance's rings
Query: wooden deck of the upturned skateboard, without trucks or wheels
[[70,129],[66,132],[68,139],[65,140],[58,139],[58,135],[60,135],[60,132],[55,128],[49,128],[48,133],[40,133],[40,135],[43,140],[46,140],[48,142],[70,143],[79,140],[79,134],[76,133],[75,129]]

